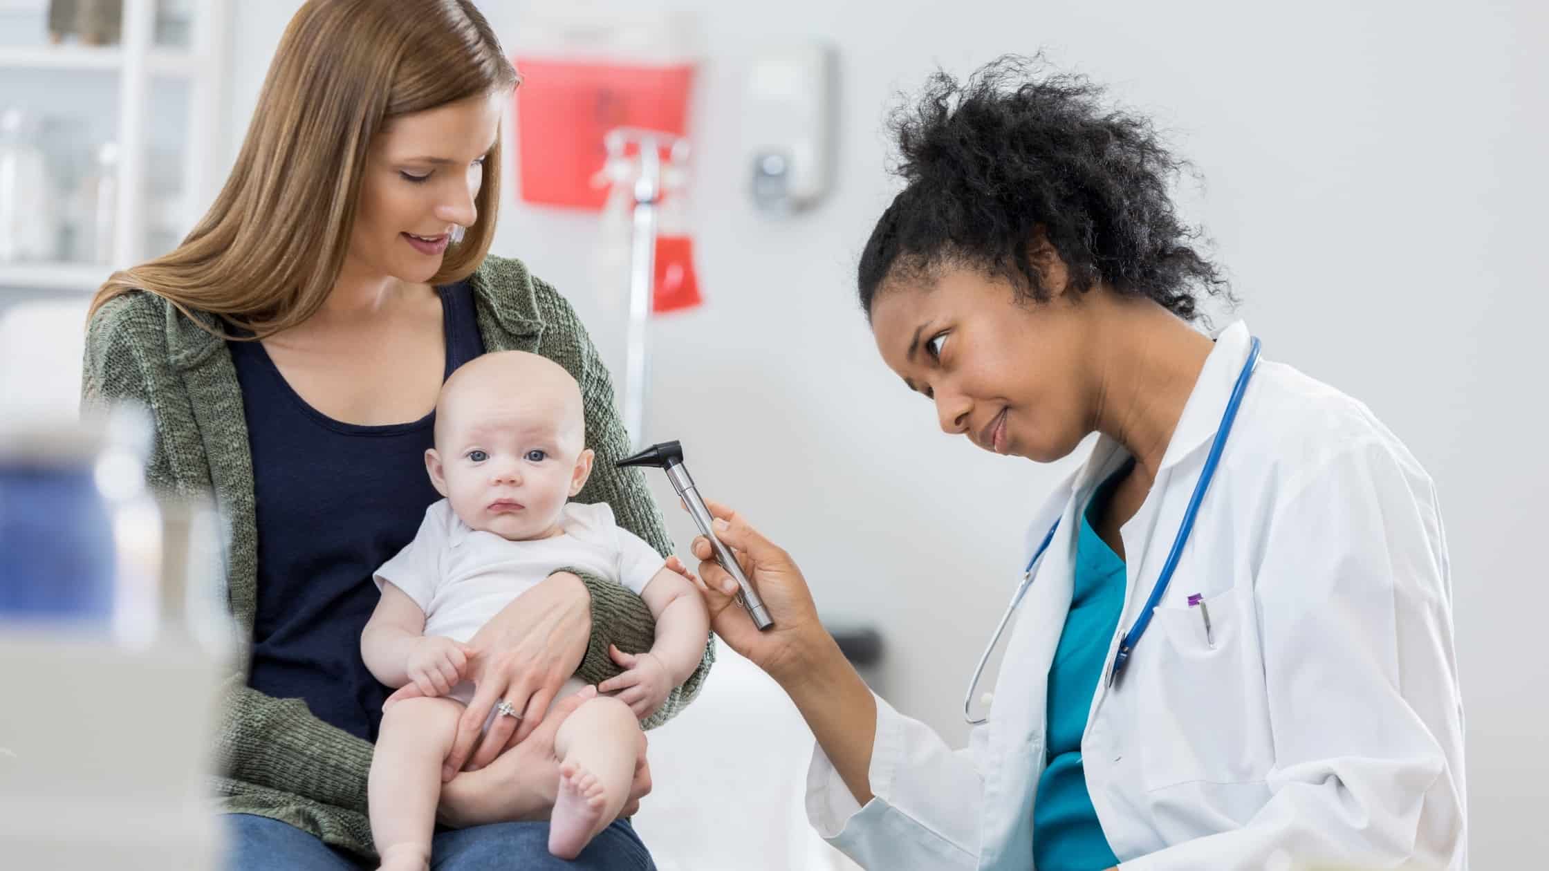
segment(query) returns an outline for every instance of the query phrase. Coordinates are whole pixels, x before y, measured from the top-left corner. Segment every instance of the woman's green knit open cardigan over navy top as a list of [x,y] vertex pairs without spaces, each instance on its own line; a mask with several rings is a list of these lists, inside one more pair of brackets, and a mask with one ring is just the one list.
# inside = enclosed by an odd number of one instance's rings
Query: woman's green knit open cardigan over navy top
[[[469,284],[486,350],[542,353],[581,384],[586,439],[596,451],[596,465],[576,499],[607,502],[621,525],[671,553],[666,524],[640,470],[613,466],[626,454],[627,437],[607,369],[570,304],[519,260],[489,257]],[[226,343],[163,298],[130,293],[91,319],[81,391],[85,406],[130,398],[150,409],[156,440],[147,476],[153,488],[177,496],[214,493],[228,535],[231,615],[246,645],[257,600],[252,457]],[[655,626],[644,601],[626,587],[586,573],[582,580],[592,594],[592,639],[578,676],[595,683],[618,673],[607,656],[610,642],[624,651],[649,649]],[[370,742],[318,719],[302,699],[276,699],[249,688],[249,656],[243,648],[237,671],[220,688],[214,776],[220,811],[282,820],[325,843],[373,856],[366,807]],[[683,710],[713,662],[714,645],[706,639],[699,670],[646,727]]]

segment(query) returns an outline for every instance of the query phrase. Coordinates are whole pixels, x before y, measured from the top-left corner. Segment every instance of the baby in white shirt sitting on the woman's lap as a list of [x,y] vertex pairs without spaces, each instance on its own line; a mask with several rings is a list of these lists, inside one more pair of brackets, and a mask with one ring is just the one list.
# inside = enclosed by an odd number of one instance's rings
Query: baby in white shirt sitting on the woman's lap
[[[575,859],[624,806],[638,719],[699,666],[705,603],[649,544],[620,528],[606,504],[568,502],[593,456],[579,386],[561,366],[524,352],[483,355],[448,378],[435,412],[424,465],[445,499],[376,570],[383,597],[361,635],[378,680],[414,682],[426,696],[383,716],[369,784],[372,835],[383,868],[428,868],[441,764],[474,693],[463,645],[511,600],[572,566],[635,590],[657,620],[649,652],[615,651],[629,666],[621,697],[582,702],[555,736],[561,769],[548,849]],[[559,696],[581,688],[572,677]]]

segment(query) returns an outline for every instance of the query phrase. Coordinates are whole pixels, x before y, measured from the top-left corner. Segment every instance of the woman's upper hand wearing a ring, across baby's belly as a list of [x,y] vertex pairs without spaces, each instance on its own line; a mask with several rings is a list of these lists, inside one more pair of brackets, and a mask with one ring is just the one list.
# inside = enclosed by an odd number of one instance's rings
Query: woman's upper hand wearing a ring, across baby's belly
[[[468,640],[472,648],[468,679],[476,691],[457,724],[457,739],[441,767],[443,781],[452,780],[465,763],[471,769],[488,766],[544,722],[548,704],[586,656],[592,635],[590,606],[581,578],[556,572],[519,595]],[[480,739],[489,711],[502,699],[520,711],[520,721],[499,716]]]

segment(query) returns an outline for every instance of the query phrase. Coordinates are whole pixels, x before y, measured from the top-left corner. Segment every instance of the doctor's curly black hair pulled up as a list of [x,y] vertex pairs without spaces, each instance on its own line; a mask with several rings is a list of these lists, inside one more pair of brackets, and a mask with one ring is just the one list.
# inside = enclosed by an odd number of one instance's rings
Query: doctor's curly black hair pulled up
[[1047,301],[1030,256],[1039,229],[1081,293],[1101,282],[1185,321],[1197,316],[1200,291],[1231,299],[1168,195],[1188,164],[1149,119],[1104,107],[1101,87],[1044,70],[1042,57],[1008,54],[965,82],[940,71],[912,107],[894,112],[895,172],[906,186],[861,253],[867,316],[889,281],[929,281],[945,265]]

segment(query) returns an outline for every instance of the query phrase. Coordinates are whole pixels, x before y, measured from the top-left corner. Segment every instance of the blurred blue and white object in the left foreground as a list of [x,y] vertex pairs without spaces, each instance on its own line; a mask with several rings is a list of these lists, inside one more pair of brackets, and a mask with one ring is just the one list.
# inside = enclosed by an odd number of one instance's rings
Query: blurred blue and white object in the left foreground
[[235,651],[222,524],[147,490],[144,409],[77,415],[36,377],[53,346],[79,347],[70,321],[26,358],[17,324],[48,318],[0,321],[3,866],[214,868],[206,784]]

